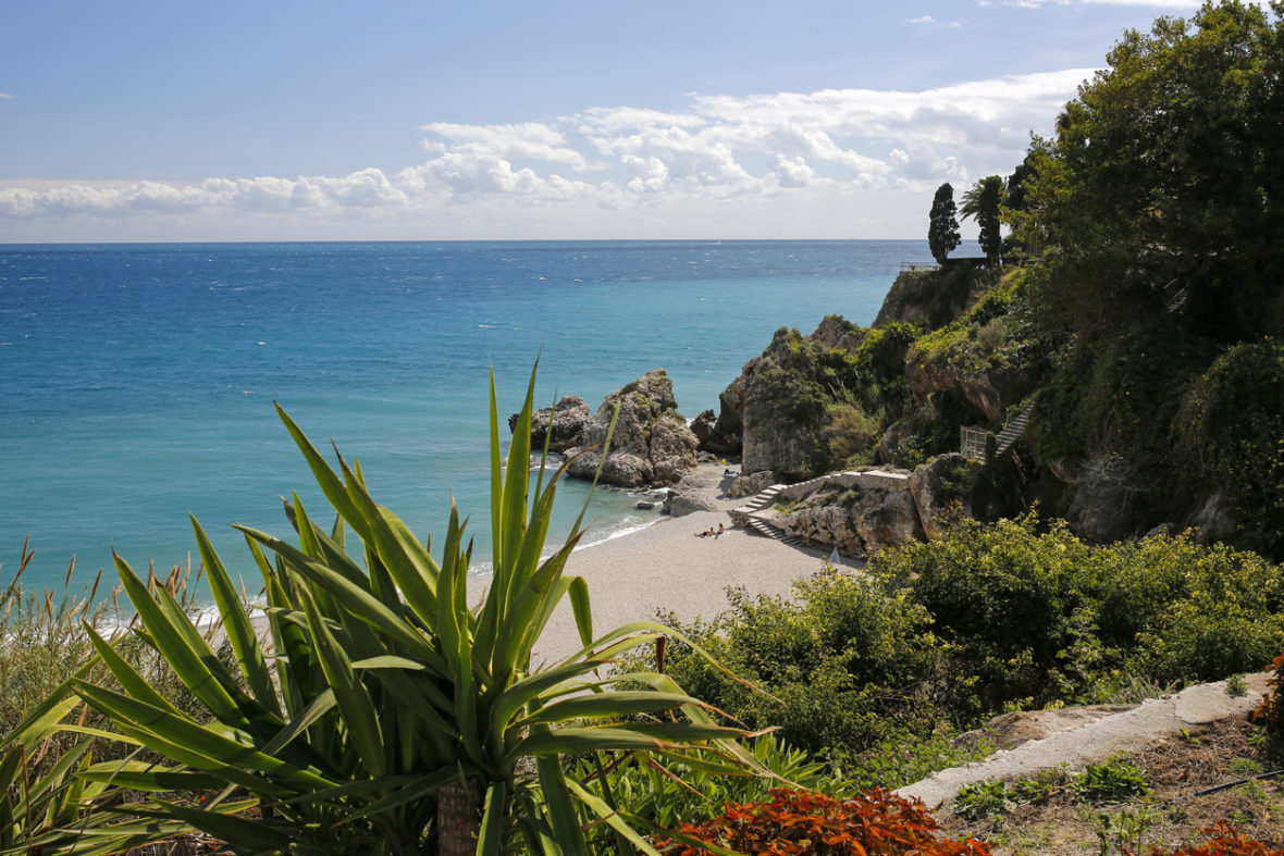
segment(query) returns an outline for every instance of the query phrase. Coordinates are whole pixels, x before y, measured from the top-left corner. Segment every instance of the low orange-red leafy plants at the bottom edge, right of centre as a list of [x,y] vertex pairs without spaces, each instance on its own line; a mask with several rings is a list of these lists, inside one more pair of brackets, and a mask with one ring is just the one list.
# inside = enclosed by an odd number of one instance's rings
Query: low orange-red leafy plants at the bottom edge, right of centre
[[777,788],[770,802],[728,802],[706,823],[682,824],[681,841],[657,842],[670,856],[754,853],[770,856],[989,856],[975,839],[937,837],[936,820],[919,801],[881,788],[837,798]]

